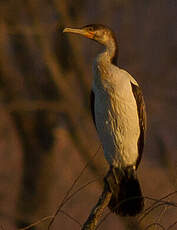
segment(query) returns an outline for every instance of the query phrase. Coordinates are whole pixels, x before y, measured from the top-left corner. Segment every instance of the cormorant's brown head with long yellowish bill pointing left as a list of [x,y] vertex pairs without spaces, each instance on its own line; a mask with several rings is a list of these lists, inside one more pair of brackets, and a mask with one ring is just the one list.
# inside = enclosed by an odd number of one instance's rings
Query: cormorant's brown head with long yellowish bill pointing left
[[103,45],[107,45],[112,38],[115,39],[115,36],[111,29],[107,26],[100,24],[91,24],[79,29],[65,28],[63,32],[80,34]]

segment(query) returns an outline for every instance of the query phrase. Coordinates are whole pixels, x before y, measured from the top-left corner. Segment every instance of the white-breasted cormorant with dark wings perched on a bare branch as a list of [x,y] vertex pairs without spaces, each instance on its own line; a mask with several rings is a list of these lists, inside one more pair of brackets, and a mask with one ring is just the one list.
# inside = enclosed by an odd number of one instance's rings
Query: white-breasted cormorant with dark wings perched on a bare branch
[[93,62],[91,114],[104,156],[110,166],[106,178],[112,193],[108,207],[120,216],[135,216],[144,208],[137,178],[146,133],[146,108],[141,87],[117,65],[118,42],[110,27],[90,24],[66,27],[103,46]]

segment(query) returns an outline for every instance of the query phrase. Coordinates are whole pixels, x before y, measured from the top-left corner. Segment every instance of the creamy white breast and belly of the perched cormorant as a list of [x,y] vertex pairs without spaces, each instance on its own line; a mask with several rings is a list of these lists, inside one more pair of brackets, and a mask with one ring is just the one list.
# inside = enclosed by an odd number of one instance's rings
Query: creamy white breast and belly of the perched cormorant
[[112,65],[94,66],[95,119],[104,155],[110,165],[136,163],[140,134],[137,105],[131,88],[136,81]]

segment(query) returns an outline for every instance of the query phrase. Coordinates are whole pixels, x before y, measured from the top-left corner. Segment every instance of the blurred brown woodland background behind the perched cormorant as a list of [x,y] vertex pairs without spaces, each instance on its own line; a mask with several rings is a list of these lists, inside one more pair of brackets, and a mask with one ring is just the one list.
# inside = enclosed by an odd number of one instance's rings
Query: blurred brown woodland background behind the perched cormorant
[[[89,108],[91,66],[101,47],[62,33],[66,26],[91,23],[115,31],[118,64],[144,92],[148,132],[138,170],[144,196],[160,199],[177,190],[177,1],[1,0],[2,229],[53,215],[87,162],[73,191],[95,181],[62,207],[51,229],[80,229],[71,217],[83,224],[102,191],[108,168]],[[176,202],[177,196],[166,200]],[[146,208],[151,203],[146,199]],[[100,229],[143,230],[154,222],[167,228],[177,211],[159,205],[142,217],[111,214]],[[47,229],[48,223],[32,229]]]

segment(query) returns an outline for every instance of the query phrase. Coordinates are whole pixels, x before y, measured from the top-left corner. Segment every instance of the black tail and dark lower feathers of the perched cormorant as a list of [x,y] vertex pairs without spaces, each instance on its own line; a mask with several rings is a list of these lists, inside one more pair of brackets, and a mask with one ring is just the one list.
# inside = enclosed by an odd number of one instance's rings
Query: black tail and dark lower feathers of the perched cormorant
[[106,178],[112,192],[108,205],[110,210],[120,216],[135,216],[140,213],[144,207],[144,199],[135,169],[111,168],[110,175]]

